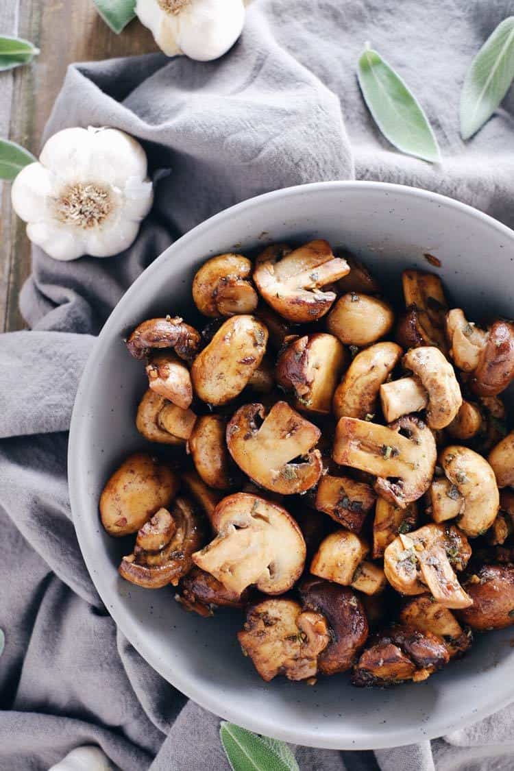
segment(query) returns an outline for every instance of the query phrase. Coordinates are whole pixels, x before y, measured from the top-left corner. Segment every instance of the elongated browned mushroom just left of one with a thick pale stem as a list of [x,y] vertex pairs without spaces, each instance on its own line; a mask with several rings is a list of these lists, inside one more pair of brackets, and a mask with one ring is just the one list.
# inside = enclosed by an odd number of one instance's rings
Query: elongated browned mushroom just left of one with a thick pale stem
[[401,348],[395,342],[378,342],[358,353],[334,392],[336,418],[372,419],[377,411],[380,387],[400,357]]

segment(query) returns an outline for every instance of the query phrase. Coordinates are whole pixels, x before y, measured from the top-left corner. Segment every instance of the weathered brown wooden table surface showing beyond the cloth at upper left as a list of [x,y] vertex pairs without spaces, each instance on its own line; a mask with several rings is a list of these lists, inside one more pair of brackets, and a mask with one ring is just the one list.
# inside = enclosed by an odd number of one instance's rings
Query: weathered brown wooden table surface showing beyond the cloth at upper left
[[[40,137],[70,62],[155,51],[137,19],[121,35],[100,19],[92,0],[0,0],[0,34],[17,35],[41,53],[30,65],[0,73],[0,136],[36,156]],[[25,224],[0,183],[0,332],[23,328],[18,294],[30,271]]]

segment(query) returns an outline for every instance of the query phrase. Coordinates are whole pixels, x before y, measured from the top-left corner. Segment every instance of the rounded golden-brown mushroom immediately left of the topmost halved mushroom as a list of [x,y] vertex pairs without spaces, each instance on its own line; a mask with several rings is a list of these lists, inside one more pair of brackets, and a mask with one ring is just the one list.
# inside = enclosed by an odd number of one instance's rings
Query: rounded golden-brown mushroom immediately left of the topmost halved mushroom
[[251,284],[252,264],[240,254],[220,254],[203,263],[193,279],[193,300],[204,316],[253,313],[257,292]]

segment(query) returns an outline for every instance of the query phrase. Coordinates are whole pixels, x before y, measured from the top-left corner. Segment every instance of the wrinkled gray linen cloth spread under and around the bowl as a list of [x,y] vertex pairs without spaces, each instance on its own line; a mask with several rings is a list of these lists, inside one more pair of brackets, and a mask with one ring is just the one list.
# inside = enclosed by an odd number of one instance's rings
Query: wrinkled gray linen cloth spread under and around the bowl
[[[69,68],[43,140],[115,126],[141,140],[156,201],[135,244],[104,260],[33,250],[21,295],[32,328],[0,337],[0,769],[45,771],[100,746],[123,771],[227,771],[219,719],[164,682],[116,629],[82,561],[66,485],[67,429],[83,365],[126,288],[180,234],[279,187],[406,183],[514,225],[514,89],[468,143],[459,93],[508,0],[254,0],[217,62],[151,55]],[[365,41],[425,107],[442,166],[398,153],[358,91]],[[294,748],[302,771],[506,771],[514,709],[416,746]]]

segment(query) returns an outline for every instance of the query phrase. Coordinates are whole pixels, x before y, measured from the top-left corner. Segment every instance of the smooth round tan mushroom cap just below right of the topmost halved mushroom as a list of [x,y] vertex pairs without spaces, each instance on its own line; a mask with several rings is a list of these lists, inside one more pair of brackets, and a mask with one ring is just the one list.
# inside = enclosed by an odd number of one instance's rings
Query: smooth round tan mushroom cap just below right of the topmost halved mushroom
[[391,331],[391,305],[370,295],[349,292],[338,299],[327,318],[328,332],[344,345],[370,345]]

